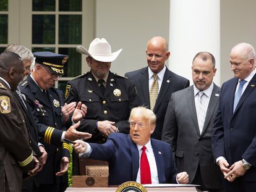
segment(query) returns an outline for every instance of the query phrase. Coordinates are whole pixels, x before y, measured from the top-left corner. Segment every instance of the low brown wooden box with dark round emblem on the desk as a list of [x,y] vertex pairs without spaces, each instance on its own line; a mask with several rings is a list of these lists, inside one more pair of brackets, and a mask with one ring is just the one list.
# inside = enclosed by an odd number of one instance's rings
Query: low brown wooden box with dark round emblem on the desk
[[73,187],[108,187],[108,176],[73,176]]

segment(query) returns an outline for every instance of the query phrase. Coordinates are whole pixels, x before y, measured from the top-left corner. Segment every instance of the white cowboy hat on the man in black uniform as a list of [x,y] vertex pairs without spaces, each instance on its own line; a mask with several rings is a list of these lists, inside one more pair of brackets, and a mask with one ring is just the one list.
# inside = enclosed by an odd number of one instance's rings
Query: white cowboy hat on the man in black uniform
[[93,57],[96,61],[111,62],[114,61],[122,49],[116,52],[111,52],[111,46],[105,38],[101,40],[96,38],[90,43],[89,50],[83,48],[83,46],[77,46],[77,52]]

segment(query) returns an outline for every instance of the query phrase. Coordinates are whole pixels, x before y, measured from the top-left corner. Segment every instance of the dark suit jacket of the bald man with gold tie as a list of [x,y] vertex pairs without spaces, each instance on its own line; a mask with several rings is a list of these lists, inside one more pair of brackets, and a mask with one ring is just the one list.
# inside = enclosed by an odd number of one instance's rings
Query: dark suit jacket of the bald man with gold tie
[[[149,88],[148,88],[148,67],[144,67],[133,72],[125,74],[130,80],[133,80],[140,98],[140,105],[145,105],[150,109]],[[189,80],[171,72],[167,67],[164,73],[161,89],[156,99],[153,112],[156,114],[156,128],[151,138],[161,140],[164,115],[171,98],[175,91],[182,90],[189,86]]]

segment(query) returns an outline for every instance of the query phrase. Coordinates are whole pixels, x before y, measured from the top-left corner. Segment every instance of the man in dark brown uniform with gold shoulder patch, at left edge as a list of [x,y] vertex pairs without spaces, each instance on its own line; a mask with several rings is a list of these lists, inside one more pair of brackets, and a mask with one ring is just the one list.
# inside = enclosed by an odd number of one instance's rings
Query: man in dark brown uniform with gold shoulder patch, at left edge
[[[25,114],[12,93],[22,80],[24,70],[19,55],[0,54],[0,191],[21,191],[22,172],[33,169]],[[39,169],[37,160],[35,165]]]

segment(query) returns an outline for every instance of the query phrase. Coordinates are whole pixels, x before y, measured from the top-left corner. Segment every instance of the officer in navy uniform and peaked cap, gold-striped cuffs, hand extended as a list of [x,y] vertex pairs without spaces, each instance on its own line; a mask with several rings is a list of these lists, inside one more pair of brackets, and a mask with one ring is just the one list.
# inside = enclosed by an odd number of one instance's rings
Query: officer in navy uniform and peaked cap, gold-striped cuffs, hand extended
[[[68,57],[47,51],[33,54],[36,57],[35,69],[32,75],[20,83],[19,88],[25,94],[27,104],[36,115],[38,122],[41,123],[38,134],[42,137],[41,143],[48,152],[45,167],[36,175],[40,185],[35,186],[33,191],[65,191],[70,159],[69,145],[63,143],[60,147],[58,143],[66,138],[68,132],[66,132],[64,115],[61,111],[61,107],[64,106],[62,92],[55,89],[53,85],[58,80],[58,76],[63,75],[64,64]],[[69,136],[71,135],[69,139],[90,137],[88,133],[75,130],[79,124],[78,122],[69,128],[75,131],[74,135],[69,133]]]

